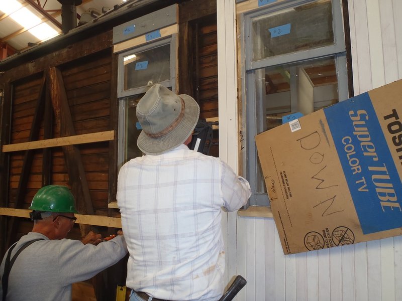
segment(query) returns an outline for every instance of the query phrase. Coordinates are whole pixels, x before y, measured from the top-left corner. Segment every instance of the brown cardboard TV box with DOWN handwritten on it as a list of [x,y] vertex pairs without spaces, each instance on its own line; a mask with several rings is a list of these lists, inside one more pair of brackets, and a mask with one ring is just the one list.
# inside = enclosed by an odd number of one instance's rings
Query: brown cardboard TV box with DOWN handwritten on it
[[402,234],[402,80],[255,137],[285,254]]

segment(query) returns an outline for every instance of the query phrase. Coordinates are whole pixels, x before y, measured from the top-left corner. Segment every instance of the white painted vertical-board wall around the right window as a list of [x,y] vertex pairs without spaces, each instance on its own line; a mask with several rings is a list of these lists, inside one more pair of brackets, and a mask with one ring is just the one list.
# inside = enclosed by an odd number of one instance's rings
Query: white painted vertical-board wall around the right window
[[[220,155],[238,169],[235,1],[218,0]],[[348,0],[355,95],[402,78],[402,0]],[[271,218],[223,221],[237,300],[402,300],[402,236],[283,255]],[[236,248],[237,246],[237,248]]]

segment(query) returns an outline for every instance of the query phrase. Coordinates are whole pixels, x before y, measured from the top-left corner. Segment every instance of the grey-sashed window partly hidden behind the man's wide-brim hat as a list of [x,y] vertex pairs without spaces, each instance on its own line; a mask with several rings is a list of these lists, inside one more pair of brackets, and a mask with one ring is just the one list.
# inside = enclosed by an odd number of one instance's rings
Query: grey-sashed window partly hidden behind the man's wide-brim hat
[[175,91],[176,41],[173,35],[119,54],[119,166],[143,155],[137,147],[141,127],[135,113],[141,97],[157,83]]

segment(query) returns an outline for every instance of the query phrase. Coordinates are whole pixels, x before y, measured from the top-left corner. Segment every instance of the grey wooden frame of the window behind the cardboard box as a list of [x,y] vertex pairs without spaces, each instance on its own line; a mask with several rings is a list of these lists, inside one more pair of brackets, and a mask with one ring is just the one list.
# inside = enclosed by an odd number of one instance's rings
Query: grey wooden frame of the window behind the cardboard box
[[[258,163],[257,147],[255,144],[255,135],[257,135],[257,102],[256,92],[256,72],[265,68],[275,66],[290,65],[302,63],[305,61],[315,60],[325,57],[334,57],[336,65],[336,74],[338,80],[338,97],[339,101],[349,98],[349,82],[348,70],[346,64],[347,50],[345,45],[345,30],[343,25],[342,3],[340,0],[331,0],[332,3],[332,16],[333,16],[333,30],[334,30],[334,44],[303,50],[299,52],[278,55],[275,57],[264,58],[261,60],[252,61],[252,20],[255,17],[268,15],[280,10],[314,3],[316,0],[284,0],[282,2],[275,2],[269,5],[258,8],[251,12],[242,14],[242,61],[244,68],[242,70],[242,118],[243,127],[245,132],[245,149],[242,153],[243,171],[245,177],[251,186],[252,195],[245,206],[267,206],[270,207],[270,200],[267,193],[258,192],[258,186],[265,183],[263,178],[258,179]],[[293,88],[294,89],[294,88]],[[292,90],[290,90],[292,93]],[[291,99],[294,99],[291,97]],[[260,181],[257,183],[257,181]],[[267,204],[268,203],[268,204]]]

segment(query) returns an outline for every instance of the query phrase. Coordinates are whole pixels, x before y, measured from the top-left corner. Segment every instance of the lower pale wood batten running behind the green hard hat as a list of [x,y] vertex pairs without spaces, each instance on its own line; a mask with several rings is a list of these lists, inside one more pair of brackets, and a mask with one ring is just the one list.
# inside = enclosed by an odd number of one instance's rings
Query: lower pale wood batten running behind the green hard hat
[[[29,218],[30,212],[32,212],[32,210],[0,207],[0,215]],[[75,221],[77,224],[104,226],[113,228],[122,227],[122,221],[118,217],[109,217],[102,215],[84,215],[84,214],[75,214],[75,217],[77,218],[77,220]]]

